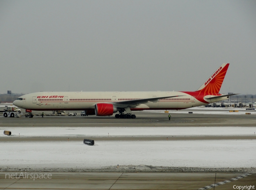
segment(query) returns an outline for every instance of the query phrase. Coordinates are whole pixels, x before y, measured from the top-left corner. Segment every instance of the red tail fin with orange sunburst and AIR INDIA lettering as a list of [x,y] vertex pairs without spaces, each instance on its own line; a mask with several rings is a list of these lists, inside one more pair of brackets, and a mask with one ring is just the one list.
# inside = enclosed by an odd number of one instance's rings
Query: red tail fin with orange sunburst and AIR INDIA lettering
[[229,63],[223,63],[205,83],[197,89],[202,93],[219,93],[222,82],[228,70]]

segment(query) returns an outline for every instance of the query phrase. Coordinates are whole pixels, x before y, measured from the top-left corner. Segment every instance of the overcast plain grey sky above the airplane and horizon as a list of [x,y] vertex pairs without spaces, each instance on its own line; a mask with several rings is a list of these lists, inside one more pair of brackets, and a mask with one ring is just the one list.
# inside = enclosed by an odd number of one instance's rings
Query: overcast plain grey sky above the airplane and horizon
[[256,94],[256,1],[0,1],[0,93]]

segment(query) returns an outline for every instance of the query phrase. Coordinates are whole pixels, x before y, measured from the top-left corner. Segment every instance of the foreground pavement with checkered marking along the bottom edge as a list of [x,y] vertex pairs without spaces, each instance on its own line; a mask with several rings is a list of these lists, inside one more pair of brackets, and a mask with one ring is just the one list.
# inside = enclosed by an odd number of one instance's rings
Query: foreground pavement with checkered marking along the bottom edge
[[[21,172],[17,172],[20,176]],[[7,174],[7,179],[6,179]],[[7,172],[0,172],[0,189],[216,189],[230,190],[238,186],[256,188],[256,174],[241,173],[126,173],[126,172],[51,172],[51,179],[20,177],[9,179]],[[27,174],[40,174],[28,172]],[[49,174],[49,172],[42,172]],[[215,178],[216,174],[216,178]],[[25,173],[22,173],[25,176]],[[215,187],[213,184],[216,184]],[[209,186],[211,188],[209,188]],[[235,187],[235,188],[234,188]],[[254,188],[253,188],[254,187]]]

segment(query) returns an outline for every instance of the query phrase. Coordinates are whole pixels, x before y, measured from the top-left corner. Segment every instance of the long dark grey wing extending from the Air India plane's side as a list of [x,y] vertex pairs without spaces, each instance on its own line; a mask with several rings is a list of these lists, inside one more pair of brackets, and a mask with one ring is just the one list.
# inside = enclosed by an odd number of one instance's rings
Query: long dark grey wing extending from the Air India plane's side
[[[184,95],[179,95],[179,96],[184,96]],[[118,104],[118,107],[127,107],[127,106],[135,106],[138,104],[146,104],[149,102],[157,102],[157,101],[159,101],[159,99],[173,98],[173,97],[179,97],[179,96],[176,95],[176,96],[145,98],[145,99],[137,99],[137,100],[125,100],[125,101],[121,101],[121,102],[115,102],[114,104]]]

